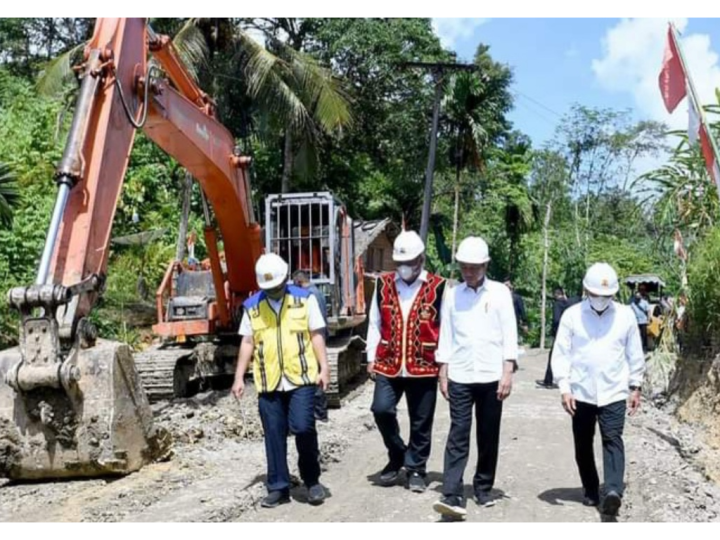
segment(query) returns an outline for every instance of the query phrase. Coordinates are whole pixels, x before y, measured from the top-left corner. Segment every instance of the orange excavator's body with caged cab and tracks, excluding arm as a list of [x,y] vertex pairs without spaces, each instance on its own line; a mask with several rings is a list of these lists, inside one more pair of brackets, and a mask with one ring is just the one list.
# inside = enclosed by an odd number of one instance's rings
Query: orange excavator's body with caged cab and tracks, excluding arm
[[[355,254],[353,220],[325,192],[269,196],[264,223],[267,251],[288,262],[291,276],[305,272],[325,297],[331,369],[327,396],[330,406],[339,407],[343,386],[362,372],[365,348],[364,270]],[[218,268],[223,276],[222,254]],[[242,310],[229,310],[230,325],[220,323],[218,302],[225,300],[216,292],[220,285],[215,276],[214,269],[179,261],[169,266],[157,292],[159,322],[153,327],[163,343],[135,355],[150,401],[187,397],[234,374]]]

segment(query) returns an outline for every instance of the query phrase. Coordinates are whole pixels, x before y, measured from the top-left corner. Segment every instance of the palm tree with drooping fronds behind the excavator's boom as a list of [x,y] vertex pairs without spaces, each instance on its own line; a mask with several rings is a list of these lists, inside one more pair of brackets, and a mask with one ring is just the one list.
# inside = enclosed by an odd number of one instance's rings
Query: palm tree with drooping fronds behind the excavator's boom
[[[241,82],[266,119],[263,124],[268,129],[264,134],[273,136],[278,130],[283,134],[282,190],[287,192],[296,161],[307,164],[317,160],[318,137],[342,134],[352,124],[350,99],[329,70],[296,50],[301,40],[290,40],[290,46],[265,25],[257,27],[267,38],[262,44],[250,36],[248,21],[244,19],[247,18],[187,17],[173,42],[196,78],[216,54],[235,56]],[[293,18],[278,19],[283,19],[282,25],[287,23],[287,28],[293,28],[286,21]],[[56,94],[64,88],[81,50],[79,45],[50,62],[40,78],[40,89]],[[217,90],[217,77],[213,86]]]

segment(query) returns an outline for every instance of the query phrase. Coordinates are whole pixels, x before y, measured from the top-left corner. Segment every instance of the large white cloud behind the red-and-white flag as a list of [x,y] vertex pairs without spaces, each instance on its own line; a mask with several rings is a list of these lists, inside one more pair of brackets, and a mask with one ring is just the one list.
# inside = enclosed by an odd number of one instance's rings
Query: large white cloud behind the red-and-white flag
[[689,17],[624,17],[603,38],[603,58],[593,62],[593,70],[605,88],[632,94],[643,116],[685,129],[687,106],[681,105],[675,114],[668,115],[658,88],[668,22],[682,33],[681,45],[700,100],[704,104],[716,103],[720,58],[710,36],[686,31]]

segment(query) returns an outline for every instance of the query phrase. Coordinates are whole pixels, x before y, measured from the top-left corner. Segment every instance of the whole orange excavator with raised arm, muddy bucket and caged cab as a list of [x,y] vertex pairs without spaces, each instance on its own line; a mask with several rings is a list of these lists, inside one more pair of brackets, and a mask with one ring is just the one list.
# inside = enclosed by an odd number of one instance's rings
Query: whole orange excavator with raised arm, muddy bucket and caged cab
[[[19,346],[0,352],[0,477],[122,475],[153,460],[162,444],[149,397],[186,393],[191,376],[203,375],[202,345],[210,347],[205,363],[217,366],[218,350],[236,339],[242,302],[256,290],[263,240],[250,160],[239,154],[172,41],[155,34],[147,19],[98,17],[85,49],[37,279],[8,294],[21,325]],[[154,328],[170,346],[133,358],[127,345],[99,339],[89,315],[103,291],[113,218],[139,129],[200,184],[210,271],[173,261],[158,291]],[[273,208],[292,200],[275,201]],[[318,265],[306,256],[302,264],[317,269],[314,279],[338,299],[330,326],[342,340],[339,355],[364,321],[352,220],[327,198],[318,209],[308,210],[302,197],[299,206],[305,210],[296,216],[277,217],[274,230],[284,236],[268,240],[287,249],[312,246],[325,257]],[[325,228],[303,229],[303,215],[325,219]],[[307,243],[302,230],[311,235]]]

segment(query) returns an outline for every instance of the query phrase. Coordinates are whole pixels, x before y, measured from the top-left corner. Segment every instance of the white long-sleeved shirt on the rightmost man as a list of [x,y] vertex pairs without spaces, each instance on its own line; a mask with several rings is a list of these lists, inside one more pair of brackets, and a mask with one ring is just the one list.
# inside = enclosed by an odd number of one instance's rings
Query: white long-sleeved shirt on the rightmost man
[[627,400],[645,375],[640,329],[632,309],[613,302],[602,315],[585,300],[565,312],[552,358],[563,394],[606,407]]

